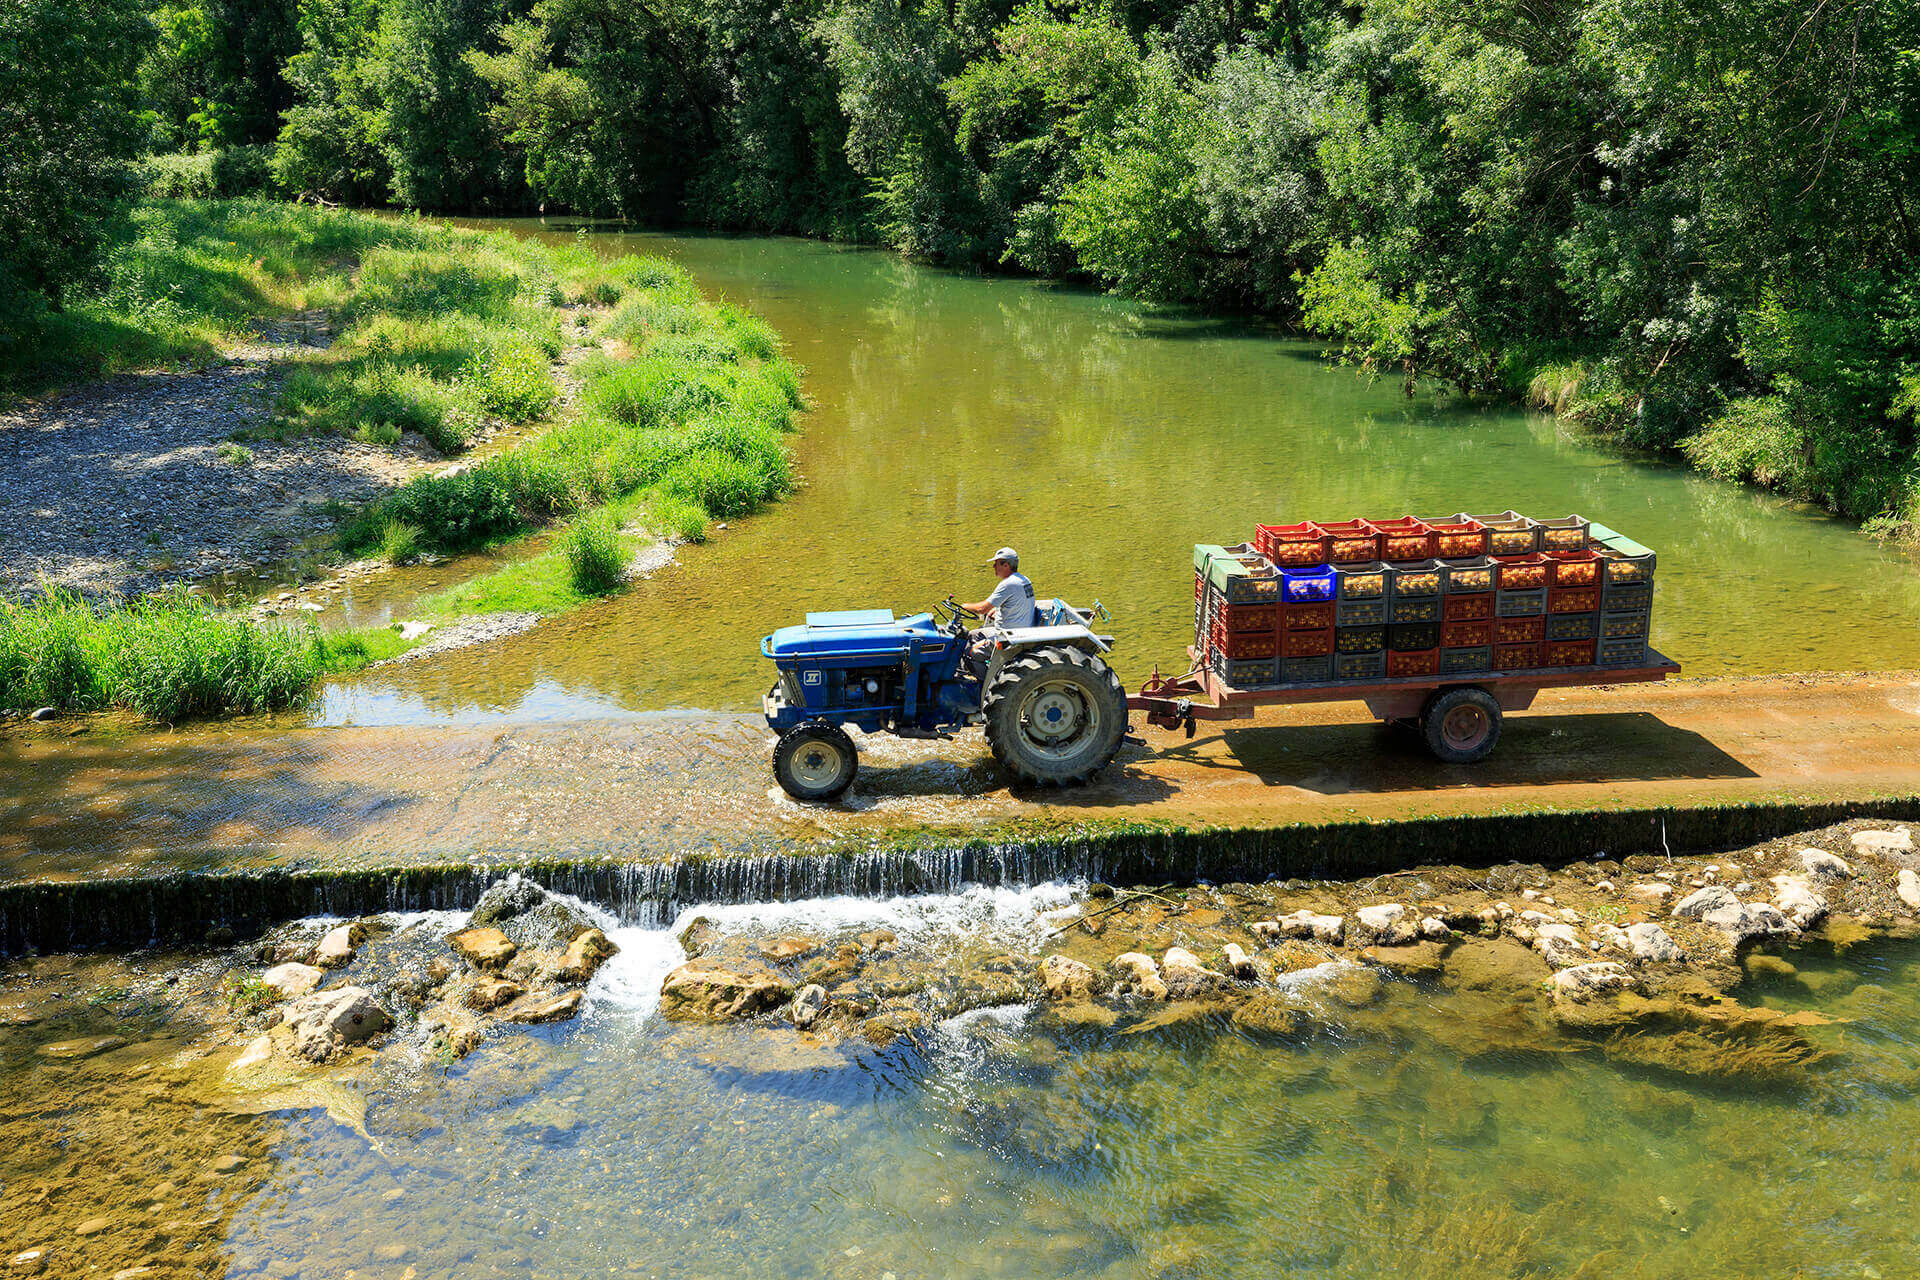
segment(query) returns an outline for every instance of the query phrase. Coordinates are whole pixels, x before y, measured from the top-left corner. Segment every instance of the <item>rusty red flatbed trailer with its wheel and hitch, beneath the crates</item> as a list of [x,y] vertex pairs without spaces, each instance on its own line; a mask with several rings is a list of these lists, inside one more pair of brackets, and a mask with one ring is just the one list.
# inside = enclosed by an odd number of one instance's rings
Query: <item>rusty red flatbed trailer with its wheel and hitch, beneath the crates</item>
[[1455,677],[1369,679],[1235,689],[1200,662],[1188,647],[1192,670],[1185,676],[1154,674],[1127,697],[1127,710],[1146,712],[1160,729],[1187,729],[1200,720],[1252,720],[1261,706],[1298,702],[1365,702],[1375,720],[1413,729],[1446,764],[1473,764],[1500,745],[1505,712],[1524,712],[1542,689],[1582,685],[1634,685],[1680,674],[1680,664],[1647,649],[1644,666],[1551,668]]

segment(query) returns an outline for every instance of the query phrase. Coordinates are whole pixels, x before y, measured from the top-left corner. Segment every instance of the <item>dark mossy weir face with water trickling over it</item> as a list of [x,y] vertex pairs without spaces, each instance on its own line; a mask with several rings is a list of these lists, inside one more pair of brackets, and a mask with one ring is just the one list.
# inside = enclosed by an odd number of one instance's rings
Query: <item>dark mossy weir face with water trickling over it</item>
[[1242,829],[1127,827],[927,848],[685,854],[647,862],[553,856],[31,881],[0,885],[0,956],[194,942],[215,931],[244,936],[305,915],[465,910],[513,871],[601,904],[622,923],[662,925],[697,904],[952,892],[964,885],[1356,879],[1421,864],[1565,865],[1596,856],[1713,852],[1849,818],[1910,818],[1916,808],[1914,796],[1889,796]]

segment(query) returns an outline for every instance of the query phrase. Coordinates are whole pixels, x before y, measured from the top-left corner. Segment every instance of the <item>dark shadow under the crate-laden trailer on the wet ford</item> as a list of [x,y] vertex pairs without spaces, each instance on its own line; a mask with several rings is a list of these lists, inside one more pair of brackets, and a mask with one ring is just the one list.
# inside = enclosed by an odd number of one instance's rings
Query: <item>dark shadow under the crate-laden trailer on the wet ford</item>
[[1440,764],[1417,733],[1377,722],[1202,731],[1142,764],[1156,762],[1317,794],[1759,777],[1711,739],[1649,712],[1509,716],[1500,747],[1478,764]]

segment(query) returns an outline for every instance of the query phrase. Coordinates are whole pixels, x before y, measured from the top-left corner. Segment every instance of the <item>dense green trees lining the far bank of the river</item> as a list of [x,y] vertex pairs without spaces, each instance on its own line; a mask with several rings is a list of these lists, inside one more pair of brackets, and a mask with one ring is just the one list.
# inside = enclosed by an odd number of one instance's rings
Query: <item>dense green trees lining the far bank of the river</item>
[[1920,6],[150,12],[152,146],[271,146],[169,184],[876,238],[1256,309],[1409,390],[1534,388],[1718,476],[1920,514]]

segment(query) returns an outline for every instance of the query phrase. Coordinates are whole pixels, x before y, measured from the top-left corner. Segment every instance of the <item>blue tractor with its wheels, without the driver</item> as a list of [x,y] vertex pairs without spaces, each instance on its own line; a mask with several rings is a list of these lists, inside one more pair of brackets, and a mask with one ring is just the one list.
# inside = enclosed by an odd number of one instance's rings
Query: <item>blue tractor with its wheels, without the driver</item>
[[968,656],[970,618],[948,597],[939,614],[806,614],[762,639],[780,670],[764,708],[787,794],[822,802],[852,785],[860,758],[847,725],[927,739],[983,723],[995,760],[1043,787],[1104,770],[1127,733],[1127,691],[1104,658],[1114,637],[1092,631],[1106,610],[1043,601],[1041,626],[996,631],[983,664]]

